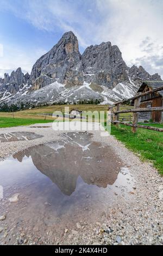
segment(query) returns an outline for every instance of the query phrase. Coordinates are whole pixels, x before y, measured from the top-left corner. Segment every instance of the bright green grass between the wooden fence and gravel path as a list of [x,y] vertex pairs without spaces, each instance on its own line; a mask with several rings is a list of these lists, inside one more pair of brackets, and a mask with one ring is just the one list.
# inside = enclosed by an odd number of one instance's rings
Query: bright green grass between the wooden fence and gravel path
[[[148,124],[150,126],[163,128],[163,124]],[[154,167],[163,175],[163,133],[146,129],[137,129],[131,132],[131,127],[124,125],[111,125],[111,135],[136,154],[142,160],[150,160]]]

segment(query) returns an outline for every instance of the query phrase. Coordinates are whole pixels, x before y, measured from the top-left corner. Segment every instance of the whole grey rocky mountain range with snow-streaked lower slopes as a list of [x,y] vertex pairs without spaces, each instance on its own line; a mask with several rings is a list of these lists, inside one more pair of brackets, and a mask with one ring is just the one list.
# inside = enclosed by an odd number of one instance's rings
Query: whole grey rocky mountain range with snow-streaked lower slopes
[[142,66],[128,68],[111,42],[91,45],[81,55],[77,37],[67,32],[37,60],[30,75],[18,68],[0,78],[0,104],[20,108],[46,103],[113,103],[133,96],[142,80],[161,77],[149,75]]

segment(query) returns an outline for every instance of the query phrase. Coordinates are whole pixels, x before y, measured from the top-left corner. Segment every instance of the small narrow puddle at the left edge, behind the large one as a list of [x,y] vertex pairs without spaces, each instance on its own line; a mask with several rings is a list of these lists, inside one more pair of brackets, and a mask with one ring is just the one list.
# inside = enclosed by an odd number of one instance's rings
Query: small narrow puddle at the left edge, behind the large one
[[8,132],[0,134],[0,142],[30,141],[42,137],[34,132]]

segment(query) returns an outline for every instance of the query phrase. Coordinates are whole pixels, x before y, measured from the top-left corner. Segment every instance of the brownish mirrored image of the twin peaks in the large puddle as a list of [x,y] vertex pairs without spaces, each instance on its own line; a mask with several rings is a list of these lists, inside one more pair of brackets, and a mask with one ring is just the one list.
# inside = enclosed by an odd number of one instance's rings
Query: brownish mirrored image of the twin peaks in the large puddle
[[22,162],[31,156],[34,166],[70,196],[80,176],[88,185],[106,188],[117,179],[121,164],[108,146],[91,140],[91,133],[69,132],[61,141],[28,148],[13,157]]

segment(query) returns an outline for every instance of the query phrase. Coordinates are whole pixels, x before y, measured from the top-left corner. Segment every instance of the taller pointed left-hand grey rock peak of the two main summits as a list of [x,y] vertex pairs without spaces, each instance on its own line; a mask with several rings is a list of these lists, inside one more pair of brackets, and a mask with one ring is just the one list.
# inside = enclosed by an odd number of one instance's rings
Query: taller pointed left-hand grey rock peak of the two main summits
[[55,81],[72,86],[82,84],[80,62],[77,37],[72,32],[65,33],[58,44],[34,64],[30,75],[33,88],[40,89]]

